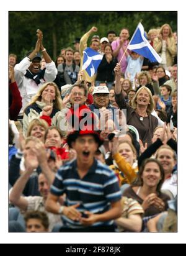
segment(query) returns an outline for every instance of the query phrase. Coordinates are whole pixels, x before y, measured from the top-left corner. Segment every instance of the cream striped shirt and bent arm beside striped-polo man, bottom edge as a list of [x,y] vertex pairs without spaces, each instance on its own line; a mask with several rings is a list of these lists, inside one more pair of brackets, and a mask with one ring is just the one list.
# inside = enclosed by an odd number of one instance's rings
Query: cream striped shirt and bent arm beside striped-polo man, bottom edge
[[119,232],[140,232],[144,210],[138,201],[122,197],[122,216],[115,222]]

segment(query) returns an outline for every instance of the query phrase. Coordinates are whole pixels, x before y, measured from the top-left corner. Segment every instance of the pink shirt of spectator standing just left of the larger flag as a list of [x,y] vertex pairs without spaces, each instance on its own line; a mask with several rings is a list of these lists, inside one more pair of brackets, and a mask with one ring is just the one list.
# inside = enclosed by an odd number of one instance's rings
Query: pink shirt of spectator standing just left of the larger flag
[[[129,41],[126,40],[126,41],[123,43],[122,47],[123,47],[123,48],[126,48],[127,45],[128,45],[128,43],[129,43]],[[120,39],[117,39],[117,40],[113,41],[112,44],[111,44],[112,50],[113,50],[113,51],[117,50],[117,48],[118,48],[119,45],[120,45]],[[124,53],[123,48],[120,48],[120,52],[119,52],[118,55],[117,55],[117,60],[118,60],[118,62],[120,62],[120,60],[121,60],[121,58],[122,58],[122,56],[123,56],[123,53]],[[127,57],[126,57],[126,55],[123,57],[123,60],[122,60],[122,62],[121,62],[121,65],[122,65],[122,72],[125,73],[126,66],[127,66]]]

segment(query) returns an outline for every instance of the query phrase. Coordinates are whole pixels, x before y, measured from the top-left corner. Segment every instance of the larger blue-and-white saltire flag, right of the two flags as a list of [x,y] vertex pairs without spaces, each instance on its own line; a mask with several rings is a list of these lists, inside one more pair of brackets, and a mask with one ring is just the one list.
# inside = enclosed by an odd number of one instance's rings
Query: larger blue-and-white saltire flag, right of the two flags
[[136,28],[135,33],[133,34],[133,37],[131,38],[128,49],[138,53],[139,55],[142,55],[145,58],[148,58],[150,62],[162,62],[161,57],[157,54],[157,52],[146,39],[144,27],[140,22]]

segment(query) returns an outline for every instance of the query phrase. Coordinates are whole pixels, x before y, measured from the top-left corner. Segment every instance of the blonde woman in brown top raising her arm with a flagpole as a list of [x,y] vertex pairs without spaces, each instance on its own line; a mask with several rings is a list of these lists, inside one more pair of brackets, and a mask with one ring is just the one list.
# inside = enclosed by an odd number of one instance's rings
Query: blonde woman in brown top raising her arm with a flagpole
[[151,91],[144,86],[140,88],[135,98],[133,98],[132,107],[130,107],[122,94],[120,64],[117,64],[115,67],[115,75],[115,98],[120,109],[126,109],[126,123],[134,126],[138,130],[139,139],[141,139],[143,144],[147,143],[151,145],[154,129],[158,125],[157,118],[152,115],[154,111],[154,101]]

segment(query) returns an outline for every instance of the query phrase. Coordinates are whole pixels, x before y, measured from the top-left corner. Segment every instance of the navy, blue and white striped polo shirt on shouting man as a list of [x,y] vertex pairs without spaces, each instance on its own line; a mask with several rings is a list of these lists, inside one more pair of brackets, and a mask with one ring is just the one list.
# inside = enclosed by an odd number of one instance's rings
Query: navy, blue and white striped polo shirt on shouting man
[[[77,161],[66,163],[58,170],[55,181],[51,186],[51,194],[61,196],[66,194],[66,206],[80,203],[78,211],[90,211],[102,214],[110,209],[110,203],[119,201],[122,193],[115,173],[97,160],[84,178],[80,178]],[[80,222],[72,221],[62,216],[64,226],[71,228],[84,227]],[[92,226],[110,226],[113,221],[97,222]]]

